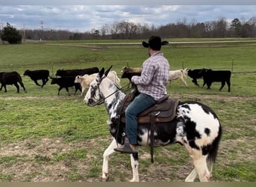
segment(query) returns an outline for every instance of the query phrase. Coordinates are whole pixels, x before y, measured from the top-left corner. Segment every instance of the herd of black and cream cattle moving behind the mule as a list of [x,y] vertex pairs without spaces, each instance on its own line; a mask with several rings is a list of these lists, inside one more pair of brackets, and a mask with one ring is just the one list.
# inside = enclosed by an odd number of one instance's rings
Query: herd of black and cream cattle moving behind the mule
[[[34,83],[43,88],[44,85],[52,79],[52,85],[58,85],[58,95],[62,88],[65,88],[67,93],[70,95],[68,88],[75,87],[75,94],[79,90],[81,95],[88,88],[91,81],[95,79],[99,73],[99,69],[97,67],[91,67],[86,69],[77,69],[77,70],[57,70],[55,76],[49,76],[49,70],[25,70],[23,76],[29,76]],[[138,76],[141,74],[141,68],[132,68],[132,67],[124,67],[122,70],[121,78],[131,79],[132,76]],[[228,85],[228,91],[231,91],[231,71],[229,70],[211,70],[211,69],[195,69],[195,70],[172,70],[170,71],[169,81],[171,82],[174,79],[180,79],[184,85],[186,84],[186,77],[189,76],[192,79],[192,82],[198,85],[197,79],[203,79],[204,85],[207,85],[207,89],[210,89],[210,86],[213,82],[221,82],[221,88],[225,86],[225,83]],[[115,71],[111,71],[108,75],[109,79],[121,87],[120,79],[118,79],[118,75]],[[42,85],[38,84],[38,80],[42,81]],[[0,72],[0,83],[1,89],[4,87],[4,92],[7,92],[6,85],[15,85],[17,89],[17,93],[19,93],[19,85],[25,90],[25,86],[22,83],[22,78],[16,71],[13,72]],[[18,85],[19,83],[19,85]]]

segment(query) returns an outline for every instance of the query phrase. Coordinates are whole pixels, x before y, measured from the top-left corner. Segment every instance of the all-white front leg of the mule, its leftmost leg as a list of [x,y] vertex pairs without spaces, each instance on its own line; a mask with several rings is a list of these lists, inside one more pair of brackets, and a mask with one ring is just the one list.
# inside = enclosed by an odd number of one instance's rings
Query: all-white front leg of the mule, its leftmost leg
[[115,138],[113,138],[109,147],[103,153],[103,181],[108,180],[109,178],[109,156],[115,152],[114,148],[118,147]]

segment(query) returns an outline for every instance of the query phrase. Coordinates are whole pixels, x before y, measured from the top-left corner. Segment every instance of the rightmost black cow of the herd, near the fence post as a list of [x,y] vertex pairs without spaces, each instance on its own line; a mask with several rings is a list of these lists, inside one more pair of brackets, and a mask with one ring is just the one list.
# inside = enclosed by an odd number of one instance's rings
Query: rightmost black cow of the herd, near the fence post
[[219,88],[219,91],[221,91],[225,82],[227,82],[228,92],[231,91],[231,71],[229,70],[205,70],[203,73],[203,79],[204,85],[207,85],[207,89],[210,88],[213,82],[222,82],[222,86]]

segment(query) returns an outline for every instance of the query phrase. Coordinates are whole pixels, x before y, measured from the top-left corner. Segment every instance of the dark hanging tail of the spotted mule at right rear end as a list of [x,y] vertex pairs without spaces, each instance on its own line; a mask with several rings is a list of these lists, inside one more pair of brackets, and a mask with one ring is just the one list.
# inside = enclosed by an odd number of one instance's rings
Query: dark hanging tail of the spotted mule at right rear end
[[210,173],[213,171],[213,164],[216,161],[216,157],[217,157],[218,150],[219,150],[219,142],[220,142],[221,138],[222,138],[222,126],[219,125],[218,136],[214,139],[212,147],[210,148],[209,154],[207,157],[207,164],[210,169]]

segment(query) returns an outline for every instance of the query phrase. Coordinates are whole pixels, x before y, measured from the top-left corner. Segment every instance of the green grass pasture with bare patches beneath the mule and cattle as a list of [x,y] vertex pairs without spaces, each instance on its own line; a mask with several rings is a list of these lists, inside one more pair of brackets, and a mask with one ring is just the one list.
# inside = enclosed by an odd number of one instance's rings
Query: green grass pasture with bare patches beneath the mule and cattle
[[[193,43],[187,43],[187,42]],[[140,67],[147,58],[138,40],[89,40],[22,45],[0,45],[0,72],[47,69],[109,67],[118,75],[121,68]],[[212,181],[256,181],[256,40],[169,40],[162,51],[171,69],[207,67],[233,70],[231,92],[220,83],[210,90],[198,88],[189,78],[186,88],[179,80],[168,85],[168,93],[181,100],[193,99],[213,108],[223,126],[219,156]],[[179,43],[182,42],[182,43]],[[199,42],[199,43],[198,43]],[[201,42],[201,43],[200,43]],[[113,44],[118,43],[118,44]],[[130,43],[124,44],[124,43]],[[71,96],[58,86],[40,88],[22,76],[25,88],[16,93],[7,85],[0,91],[0,181],[101,181],[103,152],[112,138],[106,125],[103,105],[90,108],[79,93]],[[202,85],[202,80],[198,81]],[[122,79],[121,85],[127,80]],[[150,163],[149,147],[140,147],[141,181],[183,181],[192,171],[184,147],[168,145],[154,150]],[[115,153],[109,162],[109,181],[132,178],[129,156]]]

